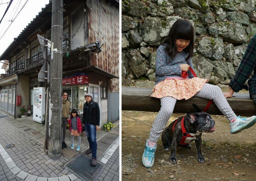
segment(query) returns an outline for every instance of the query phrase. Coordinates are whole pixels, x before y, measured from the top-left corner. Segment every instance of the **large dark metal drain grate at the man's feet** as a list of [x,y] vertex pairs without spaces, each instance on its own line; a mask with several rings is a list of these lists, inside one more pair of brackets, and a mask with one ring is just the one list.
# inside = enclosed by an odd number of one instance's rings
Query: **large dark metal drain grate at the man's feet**
[[69,162],[66,167],[81,177],[82,180],[87,181],[97,180],[104,170],[103,165],[98,161],[97,165],[93,167],[91,165],[91,158],[88,158],[83,154]]

